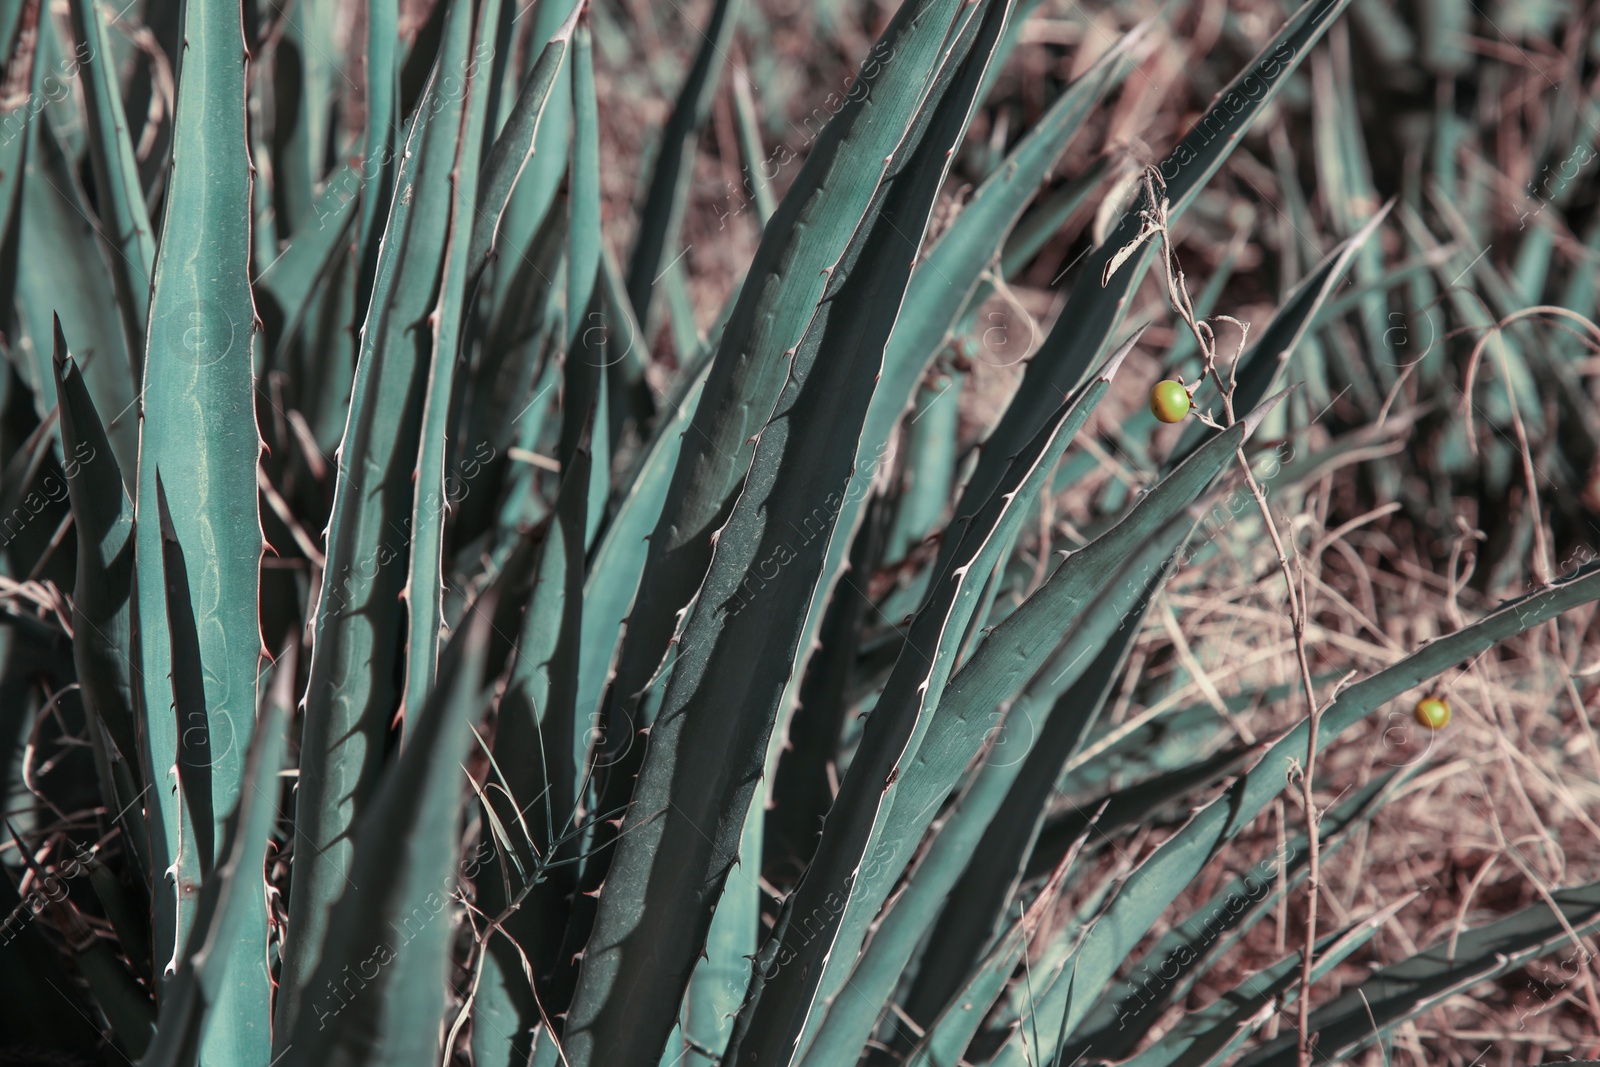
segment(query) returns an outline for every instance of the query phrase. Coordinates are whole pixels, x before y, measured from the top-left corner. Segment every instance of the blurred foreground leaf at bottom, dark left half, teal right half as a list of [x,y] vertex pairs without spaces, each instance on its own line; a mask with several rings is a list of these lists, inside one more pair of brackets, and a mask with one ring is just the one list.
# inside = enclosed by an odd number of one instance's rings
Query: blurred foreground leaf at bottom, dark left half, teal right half
[[440,1062],[451,896],[459,881],[462,761],[488,705],[485,661],[499,590],[467,609],[438,683],[410,723],[355,837],[349,881],[283,1045],[298,1062],[432,1067]]

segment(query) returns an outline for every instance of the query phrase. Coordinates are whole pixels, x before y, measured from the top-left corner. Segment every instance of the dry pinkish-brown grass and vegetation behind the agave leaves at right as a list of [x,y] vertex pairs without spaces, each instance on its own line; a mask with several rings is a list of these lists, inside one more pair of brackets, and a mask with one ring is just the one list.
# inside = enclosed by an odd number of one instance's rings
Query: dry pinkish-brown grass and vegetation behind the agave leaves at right
[[[1046,0],[1032,14],[1026,43],[973,122],[968,155],[946,192],[947,216],[981,179],[978,160],[1014,141],[1048,104],[1050,78],[1082,70],[1118,29],[1131,24],[1136,11],[1152,6]],[[666,115],[662,99],[670,98],[698,43],[693,27],[702,21],[706,8],[709,3],[699,2],[646,11],[638,0],[618,13],[621,24],[629,27],[626,32],[600,37],[608,72],[600,85],[610,160],[606,208],[610,238],[618,251],[627,246],[642,150]],[[746,74],[752,78],[768,146],[782,142],[800,154],[805,136],[798,118],[826,98],[830,86],[846,82],[853,62],[890,14],[886,3],[813,6],[770,0],[758,8],[768,35],[760,40],[747,34],[736,37],[731,77],[718,91],[694,174],[683,243],[701,331],[715,322],[757,240],[754,211],[739,197],[741,155],[731,78]],[[824,18],[822,8],[837,10],[837,18]],[[1526,142],[1544,136],[1546,114],[1562,94],[1594,101],[1592,85],[1581,80],[1582,72],[1592,70],[1592,61],[1584,66],[1584,53],[1594,11],[1568,14],[1576,18],[1576,26],[1563,21],[1555,40],[1536,34],[1466,38],[1466,66],[1459,77],[1448,77],[1386,61],[1371,45],[1371,19],[1357,10],[1318,46],[1309,77],[1299,80],[1307,85],[1333,77],[1334,67],[1355,66],[1366,150],[1382,197],[1402,192],[1406,168],[1429,166],[1424,144],[1406,139],[1414,114],[1426,112],[1435,93],[1472,99],[1459,110],[1485,136],[1461,146],[1461,181],[1483,186],[1488,202],[1483,218],[1494,237],[1488,262],[1494,270],[1509,272],[1520,237],[1518,218],[1533,210],[1522,192],[1534,178]],[[1227,40],[1222,40],[1224,19],[1237,27]],[[1261,43],[1280,19],[1280,5],[1259,0],[1186,5],[1176,24],[1158,35],[1158,45],[1128,78],[1114,106],[1091,118],[1088,131],[1077,138],[1058,176],[1080,173],[1099,154],[1110,155],[1117,173],[1125,176],[1160,158],[1238,67],[1240,35]],[[1490,24],[1493,19],[1483,16],[1480,29],[1488,30]],[[1515,27],[1499,29],[1517,32]],[[1232,248],[1234,274],[1214,310],[1251,323],[1256,331],[1294,278],[1341,234],[1330,211],[1330,200],[1338,192],[1322,186],[1314,166],[1307,102],[1304,96],[1298,102],[1290,99],[1286,107],[1272,109],[1256,125],[1174,235],[1190,291],[1206,285]],[[779,190],[792,173],[789,168],[779,174]],[[1286,179],[1296,187],[1286,190]],[[1286,197],[1298,198],[1309,211],[1296,213],[1298,232],[1296,219],[1283,206]],[[1440,205],[1424,200],[1430,203],[1430,218],[1438,218]],[[995,422],[1021,379],[1018,349],[1037,344],[1048,330],[1064,291],[1051,282],[1088,246],[1098,202],[1098,195],[1091,197],[1013,282],[1011,291],[992,298],[979,317],[992,331],[965,349],[973,358],[962,394],[963,448]],[[1342,206],[1365,219],[1378,205]],[[1589,189],[1562,211],[1552,210],[1552,272],[1568,272],[1592,256],[1578,235],[1594,206],[1590,181]],[[1304,229],[1307,219],[1310,232]],[[939,219],[934,229],[938,226]],[[1398,227],[1386,226],[1381,242],[1386,262],[1405,258]],[[1114,483],[1138,488],[1149,482],[1138,462],[1120,454],[1117,434],[1126,416],[1144,405],[1149,384],[1162,373],[1163,352],[1182,330],[1170,312],[1158,272],[1147,277],[1130,314],[1130,322],[1144,320],[1154,323],[1150,331],[1098,413],[1094,432],[1085,435],[1098,456],[1098,470],[1046,509],[1048,530],[1040,533],[1048,544],[1035,534],[1024,549],[1027,560],[1037,561],[1042,552],[1077,544],[1082,531],[1104,517],[1106,494]],[[1227,352],[1234,334],[1224,326],[1218,330]],[[1459,331],[1440,339],[1458,368],[1454,395],[1419,395],[1414,384],[1402,379],[1382,421],[1370,419],[1349,395],[1341,395],[1325,410],[1325,418],[1293,438],[1302,459],[1318,454],[1334,438],[1349,440],[1352,434],[1370,438],[1365,450],[1272,498],[1280,530],[1299,547],[1310,611],[1307,643],[1322,699],[1328,696],[1330,680],[1349,672],[1366,675],[1390,664],[1522,592],[1528,582],[1589,558],[1587,549],[1600,545],[1597,514],[1589,502],[1574,499],[1571,478],[1557,483],[1541,470],[1562,448],[1557,440],[1536,438],[1526,445],[1528,464],[1536,472],[1538,504],[1526,491],[1523,448],[1515,440],[1499,442],[1501,448],[1515,451],[1518,469],[1502,480],[1499,491],[1470,470],[1445,472],[1432,466],[1437,453],[1424,445],[1448,424],[1462,421],[1464,365],[1483,333]],[[1549,344],[1563,331],[1536,326],[1520,336]],[[1350,358],[1357,350],[1350,323],[1325,330],[1322,341],[1326,358]],[[672,358],[666,330],[656,349],[662,358]],[[1592,403],[1594,358],[1581,368],[1590,390],[1582,403]],[[1498,378],[1490,366],[1483,373]],[[1296,378],[1294,363],[1290,378]],[[1498,382],[1490,387],[1499,389]],[[1554,400],[1546,398],[1542,406],[1554,408]],[[1480,442],[1494,443],[1488,440],[1494,434],[1482,421],[1475,432]],[[1176,429],[1163,429],[1152,451],[1165,453],[1176,434]],[[1574,458],[1574,462],[1581,461]],[[1230,725],[1230,736],[1219,739],[1226,747],[1272,737],[1306,715],[1304,697],[1294,689],[1298,672],[1283,576],[1259,515],[1246,510],[1214,534],[1216,557],[1205,566],[1179,573],[1150,614],[1123,691],[1110,710],[1114,726],[1208,702],[1218,705]],[[1600,627],[1594,619],[1594,606],[1571,613],[1558,624],[1448,672],[1442,691],[1454,718],[1445,731],[1432,734],[1411,720],[1410,701],[1424,694],[1419,691],[1397,702],[1386,717],[1341,737],[1322,758],[1315,790],[1320,806],[1334,803],[1378,773],[1397,766],[1419,769],[1389,800],[1370,832],[1360,832],[1325,869],[1320,897],[1325,929],[1402,897],[1411,899],[1368,947],[1318,987],[1317,1003],[1374,966],[1450,939],[1461,926],[1536,904],[1554,886],[1600,877],[1600,744],[1592,723],[1600,707]],[[1237,712],[1222,705],[1224,697],[1250,697],[1272,686],[1286,686],[1296,694],[1248,699]],[[1070,801],[1062,798],[1061,803]],[[1093,872],[1075,880],[1086,888],[1062,901],[1062,921],[1098,881],[1125,873],[1131,862],[1158,845],[1181,816],[1181,811],[1165,813],[1155,824],[1102,849],[1093,861]],[[1213,862],[1205,878],[1189,886],[1170,917],[1187,915],[1214,893],[1226,873],[1246,870],[1285,835],[1302,827],[1299,793],[1286,789],[1272,813]],[[1200,984],[1189,1006],[1214,1000],[1262,965],[1293,952],[1304,936],[1304,894],[1290,894],[1288,905],[1258,925]],[[1160,933],[1158,928],[1149,941]],[[1400,1029],[1387,1062],[1522,1067],[1600,1057],[1600,960],[1594,949],[1595,941],[1587,939],[1581,949],[1570,947],[1560,957],[1482,982],[1467,995],[1429,1009]],[[1269,1024],[1267,1033],[1275,1027],[1277,1022]],[[1360,1062],[1376,1067],[1386,1062],[1384,1053],[1371,1049]]]

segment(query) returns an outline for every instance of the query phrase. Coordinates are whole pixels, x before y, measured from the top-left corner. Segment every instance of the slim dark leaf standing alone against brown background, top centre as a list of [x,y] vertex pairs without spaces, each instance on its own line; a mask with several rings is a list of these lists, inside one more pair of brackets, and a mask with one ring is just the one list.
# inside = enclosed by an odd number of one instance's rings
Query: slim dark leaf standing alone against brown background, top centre
[[661,262],[667,250],[677,245],[683,229],[683,208],[688,205],[690,174],[694,170],[694,142],[710,117],[710,102],[728,59],[728,42],[739,21],[739,0],[717,0],[712,5],[694,62],[683,78],[678,99],[661,128],[661,144],[650,173],[645,203],[638,210],[638,234],[634,237],[634,254],[627,261],[627,298],[648,330],[651,323],[651,296],[661,278]]

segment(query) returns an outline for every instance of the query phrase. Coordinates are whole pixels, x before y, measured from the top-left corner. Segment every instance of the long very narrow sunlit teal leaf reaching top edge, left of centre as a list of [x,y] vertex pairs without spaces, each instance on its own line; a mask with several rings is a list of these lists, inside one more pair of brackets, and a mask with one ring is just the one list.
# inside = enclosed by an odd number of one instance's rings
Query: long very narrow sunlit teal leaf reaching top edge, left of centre
[[[483,56],[494,48],[494,30],[499,24],[501,0],[482,0],[477,5],[474,56]],[[432,328],[432,358],[427,365],[427,384],[422,394],[422,424],[416,453],[414,486],[411,499],[411,555],[406,577],[405,601],[410,616],[406,640],[405,693],[402,707],[406,715],[422,707],[434,685],[438,667],[438,645],[445,629],[445,509],[448,494],[458,488],[459,477],[445,478],[445,456],[453,406],[451,392],[456,382],[456,354],[462,336],[462,307],[467,299],[467,248],[475,226],[474,205],[478,190],[478,146],[483,141],[483,125],[488,101],[494,88],[482,61],[467,64],[459,75],[458,90],[466,96],[461,128],[456,141],[454,168],[450,173],[451,202],[448,206],[450,229],[445,238],[438,267],[438,296],[427,322]]]

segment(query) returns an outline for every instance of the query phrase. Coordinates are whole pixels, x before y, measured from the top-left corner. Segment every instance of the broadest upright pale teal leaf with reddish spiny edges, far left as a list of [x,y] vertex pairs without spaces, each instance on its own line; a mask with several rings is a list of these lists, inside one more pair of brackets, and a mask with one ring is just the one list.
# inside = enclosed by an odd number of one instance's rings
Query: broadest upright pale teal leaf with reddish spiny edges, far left
[[[214,848],[224,840],[222,822],[238,805],[261,661],[261,434],[251,371],[251,170],[242,32],[237,10],[184,5],[184,35],[192,46],[178,72],[173,168],[144,357],[134,568],[149,581],[136,582],[134,670],[147,745],[144,771],[160,801],[152,805],[150,862],[174,878],[155,896],[157,952],[171,960],[168,968],[178,965],[189,937],[198,877],[219,861],[195,854],[192,846],[205,840]],[[170,544],[157,522],[158,480],[171,512],[168,533],[189,553],[187,603],[173,603],[173,589],[157,579]],[[168,630],[174,617],[192,621],[198,656],[190,678],[200,691],[178,701],[189,702],[181,707],[186,720],[168,712],[184,681],[174,662],[176,635]],[[190,779],[202,777],[203,790],[192,792],[179,781],[171,792],[174,765],[194,768]],[[237,937],[219,945],[224,974],[203,1056],[256,1062],[270,1059],[266,901],[250,896],[240,907],[232,925]]]

